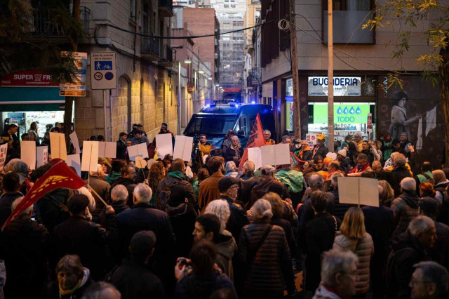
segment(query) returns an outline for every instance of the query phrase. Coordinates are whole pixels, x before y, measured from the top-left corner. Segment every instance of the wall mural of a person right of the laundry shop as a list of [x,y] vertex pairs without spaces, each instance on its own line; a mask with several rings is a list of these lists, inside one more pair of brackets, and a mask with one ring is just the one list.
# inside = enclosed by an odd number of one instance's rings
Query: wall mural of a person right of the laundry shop
[[415,117],[407,117],[406,102],[408,101],[408,94],[406,91],[398,90],[391,95],[391,124],[389,132],[391,138],[400,139],[401,133],[406,132],[410,136],[410,125],[420,119],[420,115]]

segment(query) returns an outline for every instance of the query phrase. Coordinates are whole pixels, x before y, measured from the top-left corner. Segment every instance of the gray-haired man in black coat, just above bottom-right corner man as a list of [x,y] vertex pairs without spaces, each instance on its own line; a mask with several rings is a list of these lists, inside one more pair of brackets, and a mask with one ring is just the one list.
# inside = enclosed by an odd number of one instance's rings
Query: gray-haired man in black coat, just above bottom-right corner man
[[391,253],[387,262],[387,298],[410,298],[409,283],[413,265],[430,260],[427,251],[436,240],[434,220],[417,216],[408,225],[407,232],[391,240]]

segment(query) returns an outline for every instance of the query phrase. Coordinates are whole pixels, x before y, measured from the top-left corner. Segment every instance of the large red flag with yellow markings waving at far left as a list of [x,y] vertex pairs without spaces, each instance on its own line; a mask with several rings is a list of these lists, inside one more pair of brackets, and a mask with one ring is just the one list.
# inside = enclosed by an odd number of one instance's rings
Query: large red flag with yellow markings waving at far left
[[13,221],[18,215],[25,211],[29,206],[38,201],[44,194],[58,188],[79,189],[86,185],[86,182],[72,171],[64,161],[58,162],[42,175],[33,187],[27,192],[27,195],[20,201],[17,208],[8,217],[1,230],[4,230],[9,222]]

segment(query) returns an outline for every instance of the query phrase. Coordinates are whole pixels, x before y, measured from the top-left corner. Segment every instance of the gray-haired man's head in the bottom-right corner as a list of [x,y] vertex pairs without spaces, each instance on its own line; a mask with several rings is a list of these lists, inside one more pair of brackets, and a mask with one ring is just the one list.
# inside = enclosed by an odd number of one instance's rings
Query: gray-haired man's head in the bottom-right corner
[[410,279],[412,299],[448,298],[449,274],[445,267],[435,262],[421,262],[413,267],[415,272]]

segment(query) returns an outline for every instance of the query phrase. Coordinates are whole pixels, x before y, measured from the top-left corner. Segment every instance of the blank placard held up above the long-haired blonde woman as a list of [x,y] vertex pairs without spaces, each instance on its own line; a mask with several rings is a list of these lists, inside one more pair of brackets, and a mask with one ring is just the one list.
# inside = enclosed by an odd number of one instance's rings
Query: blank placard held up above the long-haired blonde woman
[[379,207],[379,187],[374,178],[338,178],[340,204],[361,204]]

